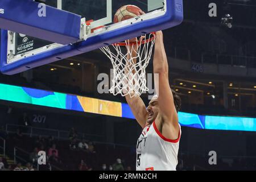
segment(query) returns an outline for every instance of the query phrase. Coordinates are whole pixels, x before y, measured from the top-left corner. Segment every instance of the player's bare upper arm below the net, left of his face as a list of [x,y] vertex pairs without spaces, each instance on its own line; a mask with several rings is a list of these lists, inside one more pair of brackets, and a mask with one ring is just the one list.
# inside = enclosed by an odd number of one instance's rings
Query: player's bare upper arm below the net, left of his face
[[146,125],[146,117],[147,117],[147,110],[144,102],[142,101],[141,97],[134,96],[130,98],[130,96],[125,96],[127,104],[130,106],[131,111],[139,125],[142,128]]

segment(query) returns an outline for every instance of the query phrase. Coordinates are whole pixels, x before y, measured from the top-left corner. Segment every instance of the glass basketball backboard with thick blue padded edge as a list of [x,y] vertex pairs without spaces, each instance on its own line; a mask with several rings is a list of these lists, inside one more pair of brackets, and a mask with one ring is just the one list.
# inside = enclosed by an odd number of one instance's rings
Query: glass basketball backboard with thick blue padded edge
[[[46,5],[85,18],[86,26],[82,25],[86,27],[85,39],[61,45],[20,32],[1,30],[2,73],[13,75],[152,31],[171,28],[183,20],[182,0],[46,0]],[[138,6],[146,14],[114,24],[115,12],[124,5]],[[68,22],[67,26],[70,26]]]

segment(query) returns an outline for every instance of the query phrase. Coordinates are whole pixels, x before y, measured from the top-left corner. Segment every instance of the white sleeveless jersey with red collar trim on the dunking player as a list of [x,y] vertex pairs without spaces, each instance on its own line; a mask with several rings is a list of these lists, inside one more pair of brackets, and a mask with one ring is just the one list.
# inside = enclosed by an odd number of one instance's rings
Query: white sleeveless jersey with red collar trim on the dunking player
[[176,140],[165,138],[155,122],[144,127],[137,141],[137,171],[176,171],[181,129]]

